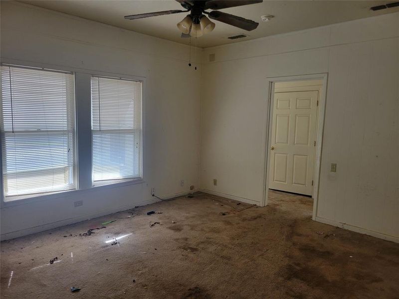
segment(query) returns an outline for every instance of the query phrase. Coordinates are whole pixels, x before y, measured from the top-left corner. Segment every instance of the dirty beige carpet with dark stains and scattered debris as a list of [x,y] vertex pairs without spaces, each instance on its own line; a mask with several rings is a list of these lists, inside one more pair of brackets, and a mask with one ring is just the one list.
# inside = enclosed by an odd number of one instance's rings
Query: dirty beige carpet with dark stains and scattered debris
[[399,244],[311,213],[281,192],[264,208],[199,194],[5,241],[1,298],[399,298]]

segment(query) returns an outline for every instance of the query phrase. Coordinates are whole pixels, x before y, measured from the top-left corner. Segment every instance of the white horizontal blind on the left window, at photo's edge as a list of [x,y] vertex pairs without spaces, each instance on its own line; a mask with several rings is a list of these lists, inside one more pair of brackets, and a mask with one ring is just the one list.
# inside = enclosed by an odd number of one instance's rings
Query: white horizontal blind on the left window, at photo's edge
[[74,110],[71,73],[1,66],[5,196],[75,188]]

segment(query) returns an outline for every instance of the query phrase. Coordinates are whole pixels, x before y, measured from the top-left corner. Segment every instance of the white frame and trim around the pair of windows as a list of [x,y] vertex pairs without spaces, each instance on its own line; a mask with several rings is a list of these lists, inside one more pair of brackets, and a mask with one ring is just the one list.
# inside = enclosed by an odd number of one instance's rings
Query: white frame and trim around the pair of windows
[[[27,68],[38,68],[38,69],[48,69],[48,70],[61,70],[65,72],[72,72],[74,75],[74,90],[75,90],[75,180],[76,180],[76,189],[73,190],[61,190],[56,192],[48,192],[48,193],[37,193],[37,194],[29,194],[29,195],[17,195],[17,196],[9,196],[15,197],[13,200],[4,201],[4,186],[3,186],[3,174],[2,174],[2,167],[0,167],[0,208],[18,206],[23,204],[30,204],[39,201],[45,200],[56,200],[56,199],[68,199],[71,204],[73,204],[74,198],[73,196],[76,193],[92,193],[94,191],[99,191],[102,189],[111,189],[111,188],[119,188],[129,185],[136,185],[142,184],[146,182],[146,91],[147,91],[147,78],[144,76],[137,76],[131,74],[123,74],[123,73],[112,73],[112,72],[104,72],[98,70],[90,70],[84,68],[77,68],[77,67],[69,67],[69,66],[62,66],[62,65],[53,65],[53,64],[45,64],[45,63],[36,63],[31,61],[21,61],[15,59],[5,59],[1,58],[1,64],[10,64],[10,65],[17,65]],[[141,160],[142,160],[142,176],[141,178],[133,178],[133,179],[120,179],[120,180],[113,180],[113,181],[103,181],[104,183],[94,185],[92,181],[92,167],[88,169],[82,169],[81,163],[79,163],[80,159],[89,159],[92,160],[92,141],[91,137],[89,138],[90,147],[86,147],[86,154],[80,154],[82,148],[85,148],[82,138],[80,136],[91,136],[91,108],[89,111],[84,111],[82,109],[83,105],[91,106],[91,93],[90,93],[90,78],[92,76],[101,76],[101,77],[111,77],[111,78],[124,78],[133,81],[139,81],[142,84],[142,103],[141,103]],[[84,77],[86,80],[84,80]],[[87,94],[87,91],[89,93]],[[79,113],[83,112],[83,113]],[[86,112],[86,113],[84,113]],[[89,123],[89,127],[82,128],[81,123]],[[87,130],[89,130],[87,132]],[[85,140],[85,139],[83,139]],[[85,140],[87,144],[87,139]],[[1,147],[1,139],[0,139],[0,147]],[[89,149],[87,149],[89,148]],[[87,154],[90,153],[90,154]],[[2,163],[2,155],[0,154],[0,163]],[[91,162],[90,162],[91,164]],[[2,165],[2,164],[0,164]],[[88,171],[87,171],[88,170]],[[83,172],[83,175],[82,175]],[[82,183],[81,177],[86,175],[87,173],[90,175],[90,185],[86,182],[86,185]],[[90,194],[88,194],[90,196]],[[69,198],[68,198],[69,197]]]

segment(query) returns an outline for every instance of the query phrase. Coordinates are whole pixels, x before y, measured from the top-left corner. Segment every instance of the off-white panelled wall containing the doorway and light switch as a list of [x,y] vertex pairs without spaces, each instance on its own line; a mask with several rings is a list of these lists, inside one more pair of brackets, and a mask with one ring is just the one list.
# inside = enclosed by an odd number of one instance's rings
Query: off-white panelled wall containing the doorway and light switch
[[399,13],[206,48],[203,63],[202,189],[261,204],[266,78],[328,73],[314,216],[399,241]]

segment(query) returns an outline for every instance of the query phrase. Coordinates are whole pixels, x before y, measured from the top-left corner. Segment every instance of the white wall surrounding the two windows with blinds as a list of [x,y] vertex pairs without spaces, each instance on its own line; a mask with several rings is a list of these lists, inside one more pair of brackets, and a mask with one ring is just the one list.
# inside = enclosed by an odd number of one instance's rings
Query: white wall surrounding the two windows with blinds
[[[17,2],[1,1],[1,62],[146,78],[145,183],[96,187],[1,207],[12,238],[171,197],[198,186],[200,67],[188,46]],[[90,101],[89,95],[85,101]],[[185,186],[180,186],[180,180]],[[73,202],[83,200],[83,206]]]

